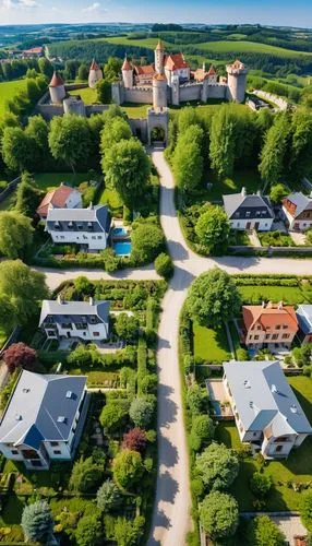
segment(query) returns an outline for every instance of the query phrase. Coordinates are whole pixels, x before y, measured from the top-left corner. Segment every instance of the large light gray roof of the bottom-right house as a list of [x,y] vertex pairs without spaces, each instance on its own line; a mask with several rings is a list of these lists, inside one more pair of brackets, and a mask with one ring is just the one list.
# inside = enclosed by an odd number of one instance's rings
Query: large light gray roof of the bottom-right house
[[271,425],[275,437],[312,434],[278,361],[225,363],[224,370],[245,430]]

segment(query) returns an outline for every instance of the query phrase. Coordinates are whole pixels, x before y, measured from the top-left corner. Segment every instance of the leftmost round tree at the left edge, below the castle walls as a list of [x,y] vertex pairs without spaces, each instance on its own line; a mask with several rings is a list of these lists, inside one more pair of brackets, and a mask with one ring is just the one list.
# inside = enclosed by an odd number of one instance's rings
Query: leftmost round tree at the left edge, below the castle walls
[[[62,118],[59,118],[62,119]],[[4,127],[2,157],[7,167],[21,171],[32,167],[34,141],[20,127]]]

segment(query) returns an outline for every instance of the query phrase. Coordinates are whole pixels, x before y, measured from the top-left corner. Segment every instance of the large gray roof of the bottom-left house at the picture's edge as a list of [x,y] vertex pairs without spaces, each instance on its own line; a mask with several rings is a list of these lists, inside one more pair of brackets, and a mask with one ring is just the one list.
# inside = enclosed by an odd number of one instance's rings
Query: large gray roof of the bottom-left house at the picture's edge
[[68,440],[86,379],[24,370],[2,417],[0,441],[37,450],[43,440]]

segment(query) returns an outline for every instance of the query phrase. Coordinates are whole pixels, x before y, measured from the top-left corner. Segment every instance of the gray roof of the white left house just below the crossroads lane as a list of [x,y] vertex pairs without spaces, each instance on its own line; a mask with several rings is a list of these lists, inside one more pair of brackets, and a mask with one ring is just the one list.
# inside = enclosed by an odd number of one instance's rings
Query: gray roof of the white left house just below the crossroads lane
[[110,301],[59,301],[58,299],[44,299],[39,327],[49,314],[59,317],[97,316],[101,322],[108,322]]

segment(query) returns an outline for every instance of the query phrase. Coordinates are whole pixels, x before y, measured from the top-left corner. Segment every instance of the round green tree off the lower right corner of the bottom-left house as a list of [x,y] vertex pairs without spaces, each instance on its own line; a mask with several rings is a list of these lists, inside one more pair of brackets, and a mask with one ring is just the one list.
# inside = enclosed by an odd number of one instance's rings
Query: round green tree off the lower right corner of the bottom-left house
[[75,462],[71,478],[70,488],[79,492],[93,491],[103,479],[103,470],[93,462],[92,456],[80,459]]

